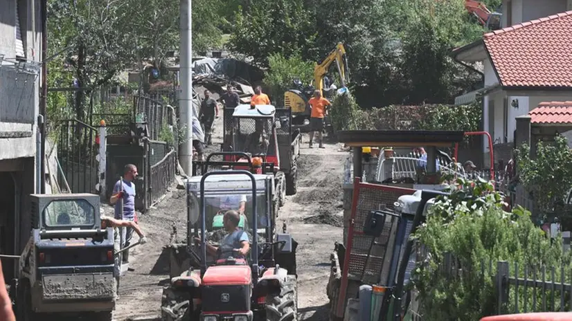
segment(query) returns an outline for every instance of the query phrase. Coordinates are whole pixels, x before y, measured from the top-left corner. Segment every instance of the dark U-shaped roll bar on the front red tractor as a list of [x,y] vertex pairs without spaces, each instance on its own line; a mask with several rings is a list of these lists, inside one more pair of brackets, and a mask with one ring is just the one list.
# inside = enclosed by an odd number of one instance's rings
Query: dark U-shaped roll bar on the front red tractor
[[[201,178],[200,191],[201,191],[201,244],[202,246],[202,259],[201,259],[201,275],[206,272],[206,202],[204,201],[204,182],[209,176],[215,175],[246,175],[252,182],[252,248],[251,250],[251,264],[253,270],[258,270],[258,210],[256,208],[256,178],[254,175],[246,170],[225,170],[205,173]],[[258,281],[258,273],[252,273],[253,283]]]

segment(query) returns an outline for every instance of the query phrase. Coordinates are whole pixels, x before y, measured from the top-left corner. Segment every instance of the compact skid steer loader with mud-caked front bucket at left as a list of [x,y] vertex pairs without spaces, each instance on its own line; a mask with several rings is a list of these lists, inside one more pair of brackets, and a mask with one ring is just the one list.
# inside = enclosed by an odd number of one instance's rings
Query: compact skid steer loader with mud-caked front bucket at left
[[18,320],[87,316],[111,320],[114,234],[101,229],[100,196],[33,194],[32,232],[19,260]]

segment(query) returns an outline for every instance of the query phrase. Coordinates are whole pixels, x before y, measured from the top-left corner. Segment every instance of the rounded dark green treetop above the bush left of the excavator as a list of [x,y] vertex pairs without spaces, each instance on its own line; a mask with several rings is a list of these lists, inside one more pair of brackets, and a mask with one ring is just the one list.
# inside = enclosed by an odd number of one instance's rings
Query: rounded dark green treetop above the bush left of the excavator
[[303,0],[259,0],[250,11],[236,13],[236,25],[229,46],[232,51],[253,57],[257,64],[268,65],[268,57],[280,53],[289,57],[314,48],[312,16]]

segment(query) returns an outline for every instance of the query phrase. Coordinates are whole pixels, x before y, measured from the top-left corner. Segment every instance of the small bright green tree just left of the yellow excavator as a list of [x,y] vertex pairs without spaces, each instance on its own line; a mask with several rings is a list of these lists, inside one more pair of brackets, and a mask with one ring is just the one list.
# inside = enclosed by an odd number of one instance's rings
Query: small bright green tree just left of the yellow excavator
[[314,64],[304,61],[298,53],[290,57],[284,57],[280,53],[272,54],[268,57],[268,64],[264,82],[269,88],[269,95],[274,104],[283,104],[284,92],[292,88],[292,81],[295,78],[301,80],[303,84],[312,81]]

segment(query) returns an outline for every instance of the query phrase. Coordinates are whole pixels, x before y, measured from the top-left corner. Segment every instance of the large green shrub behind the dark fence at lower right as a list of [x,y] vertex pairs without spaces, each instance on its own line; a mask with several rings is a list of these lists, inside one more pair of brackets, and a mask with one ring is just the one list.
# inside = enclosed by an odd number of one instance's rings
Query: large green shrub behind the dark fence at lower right
[[[427,320],[479,320],[497,313],[494,286],[497,261],[518,264],[522,271],[536,264],[570,264],[562,250],[562,240],[551,243],[530,219],[530,212],[517,208],[502,210],[502,195],[487,181],[458,180],[449,196],[440,196],[429,210],[427,222],[415,236],[427,250],[427,259],[413,273],[413,284]],[[440,266],[444,253],[456,258],[455,268],[462,273],[452,277]],[[492,270],[488,271],[492,262]],[[485,272],[481,273],[484,264]],[[514,268],[513,268],[514,269]],[[568,273],[569,274],[569,273]],[[511,270],[510,275],[514,275]],[[560,268],[556,279],[560,280]],[[523,277],[523,275],[521,275]],[[538,295],[542,291],[537,291]],[[503,311],[514,311],[515,295],[522,309],[524,296],[511,291]],[[528,293],[528,306],[532,295]],[[560,302],[560,300],[556,300]]]

